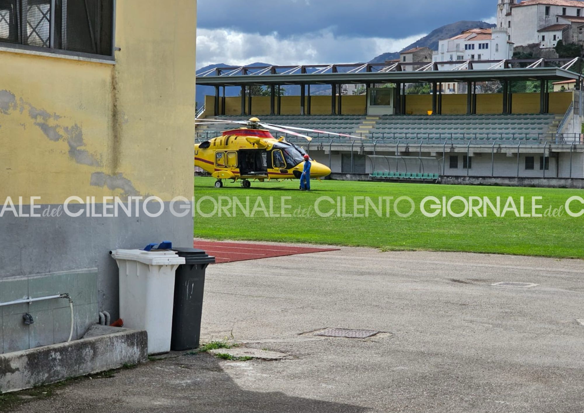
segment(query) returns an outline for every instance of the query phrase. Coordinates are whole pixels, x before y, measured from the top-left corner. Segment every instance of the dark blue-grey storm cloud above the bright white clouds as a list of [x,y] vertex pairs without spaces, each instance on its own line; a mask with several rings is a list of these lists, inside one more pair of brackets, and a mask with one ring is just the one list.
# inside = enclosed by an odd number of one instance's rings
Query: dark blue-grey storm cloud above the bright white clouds
[[197,25],[288,37],[406,37],[458,20],[495,16],[496,0],[199,0]]

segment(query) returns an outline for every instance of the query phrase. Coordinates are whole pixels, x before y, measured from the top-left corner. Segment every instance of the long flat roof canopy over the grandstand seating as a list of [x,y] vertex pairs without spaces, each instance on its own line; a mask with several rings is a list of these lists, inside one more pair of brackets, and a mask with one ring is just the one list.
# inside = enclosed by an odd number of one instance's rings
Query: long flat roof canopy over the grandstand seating
[[[475,68],[477,65],[481,68]],[[579,66],[580,58],[219,67],[197,73],[197,84],[246,86],[570,80],[580,78],[578,72],[569,70]]]

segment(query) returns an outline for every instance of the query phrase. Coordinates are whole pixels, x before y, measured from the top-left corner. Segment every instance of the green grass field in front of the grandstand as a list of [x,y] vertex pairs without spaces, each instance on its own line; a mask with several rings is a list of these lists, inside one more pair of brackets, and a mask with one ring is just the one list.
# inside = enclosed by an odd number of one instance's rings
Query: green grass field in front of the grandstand
[[[552,210],[564,206],[571,196],[584,197],[582,190],[313,180],[312,192],[307,193],[298,190],[298,181],[252,182],[251,189],[242,189],[239,183],[227,181],[224,188],[216,189],[213,187],[214,182],[213,178],[195,179],[194,196],[202,214],[211,215],[214,212],[214,203],[209,197],[218,206],[221,202],[224,207],[221,216],[218,214],[219,207],[213,216],[201,216],[198,211],[195,213],[195,237],[211,240],[307,242],[384,250],[466,251],[584,258],[584,216],[571,217],[564,211],[561,216],[528,218],[517,217],[511,211],[505,217],[496,217],[493,213],[487,217],[477,217],[475,214],[472,217],[468,214],[464,217],[453,217],[449,214],[443,217],[442,213],[436,217],[426,217],[420,211],[420,202],[427,196],[435,196],[440,200],[444,196],[447,199],[454,196],[465,199],[471,196],[488,197],[493,203],[496,202],[496,197],[500,197],[501,210],[507,197],[513,197],[519,210],[520,197],[523,196],[524,212],[531,213],[531,197],[541,196],[543,199],[536,203],[543,206],[537,211],[543,214],[550,206]],[[354,197],[370,197],[379,207],[379,197],[394,197],[395,200],[401,196],[408,196],[415,203],[416,209],[409,217],[395,214],[392,204],[390,216],[387,217],[385,199],[381,200],[381,217],[371,207],[369,217],[343,217],[342,207],[340,214],[336,209],[336,205],[342,206],[341,202],[336,202],[337,197],[346,197],[345,214],[351,214]],[[290,197],[283,202],[290,206],[285,212],[291,217],[266,217],[266,211],[270,212],[270,197],[273,200],[274,214],[281,213],[281,197]],[[330,197],[335,201],[333,204],[325,200],[319,206],[319,210],[324,213],[332,212],[331,216],[322,217],[315,213],[314,205],[319,197]],[[235,198],[244,207],[246,198],[249,199],[249,215],[253,207],[257,206],[254,216],[245,216],[239,207],[236,207],[233,216],[232,204]],[[261,209],[262,204],[259,202],[263,202],[266,210]],[[357,206],[364,204],[364,200],[357,198]],[[401,213],[410,209],[409,202],[399,203],[398,210]],[[456,201],[451,209],[454,213],[461,212],[464,204]],[[572,203],[573,211],[580,209],[582,204]],[[432,211],[429,207],[426,210]],[[482,212],[482,208],[479,211]],[[364,214],[364,209],[360,208],[357,212]]]

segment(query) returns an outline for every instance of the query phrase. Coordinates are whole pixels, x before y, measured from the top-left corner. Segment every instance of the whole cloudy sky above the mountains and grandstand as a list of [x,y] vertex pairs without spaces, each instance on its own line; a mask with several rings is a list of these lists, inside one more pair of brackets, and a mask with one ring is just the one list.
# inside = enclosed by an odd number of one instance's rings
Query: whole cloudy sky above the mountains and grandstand
[[197,68],[356,63],[458,20],[494,22],[496,0],[198,0]]

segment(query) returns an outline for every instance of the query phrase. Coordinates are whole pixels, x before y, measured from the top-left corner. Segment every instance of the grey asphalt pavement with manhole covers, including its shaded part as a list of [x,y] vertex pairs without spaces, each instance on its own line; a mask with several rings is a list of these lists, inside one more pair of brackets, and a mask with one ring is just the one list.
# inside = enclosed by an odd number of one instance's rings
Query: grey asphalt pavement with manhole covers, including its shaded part
[[583,299],[580,260],[342,248],[212,265],[203,338],[283,359],[178,354],[16,411],[582,412]]

